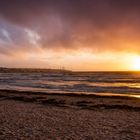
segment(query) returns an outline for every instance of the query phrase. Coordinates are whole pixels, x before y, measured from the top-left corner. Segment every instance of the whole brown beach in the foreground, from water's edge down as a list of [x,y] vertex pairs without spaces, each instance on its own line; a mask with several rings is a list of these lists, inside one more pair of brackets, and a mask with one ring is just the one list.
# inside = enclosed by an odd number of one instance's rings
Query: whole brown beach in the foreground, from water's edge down
[[0,140],[139,140],[140,99],[0,91]]

